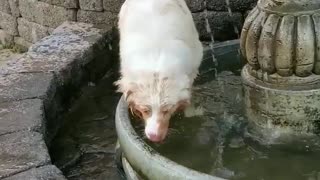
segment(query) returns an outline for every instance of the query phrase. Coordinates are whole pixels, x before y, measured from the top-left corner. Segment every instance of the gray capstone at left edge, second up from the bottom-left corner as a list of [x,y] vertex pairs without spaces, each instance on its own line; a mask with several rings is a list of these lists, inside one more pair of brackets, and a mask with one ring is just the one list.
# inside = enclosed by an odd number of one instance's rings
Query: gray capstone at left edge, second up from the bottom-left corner
[[24,131],[0,136],[0,178],[49,163],[41,134]]

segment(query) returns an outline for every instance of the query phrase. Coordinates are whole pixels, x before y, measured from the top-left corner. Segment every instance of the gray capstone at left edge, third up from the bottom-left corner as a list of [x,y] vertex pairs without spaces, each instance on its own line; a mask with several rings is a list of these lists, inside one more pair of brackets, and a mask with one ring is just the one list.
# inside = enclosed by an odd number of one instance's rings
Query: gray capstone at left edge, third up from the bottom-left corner
[[0,103],[0,136],[22,130],[43,132],[43,117],[39,99]]

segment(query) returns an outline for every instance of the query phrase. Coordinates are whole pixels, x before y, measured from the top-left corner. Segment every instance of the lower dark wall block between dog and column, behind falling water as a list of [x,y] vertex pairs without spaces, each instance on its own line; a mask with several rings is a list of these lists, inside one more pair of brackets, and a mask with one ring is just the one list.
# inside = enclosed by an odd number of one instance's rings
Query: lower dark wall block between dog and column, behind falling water
[[232,17],[230,17],[228,12],[209,11],[207,16],[204,12],[193,14],[201,40],[211,41],[211,34],[207,32],[206,18],[208,18],[211,33],[214,35],[215,40],[225,41],[238,38],[239,35],[235,28],[241,32],[243,24],[241,13],[233,13]]

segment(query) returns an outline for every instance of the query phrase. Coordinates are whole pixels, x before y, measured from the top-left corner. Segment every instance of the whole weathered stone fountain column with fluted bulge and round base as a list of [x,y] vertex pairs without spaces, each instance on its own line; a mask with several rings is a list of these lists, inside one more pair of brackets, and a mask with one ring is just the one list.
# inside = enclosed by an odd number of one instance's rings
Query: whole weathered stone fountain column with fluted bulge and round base
[[320,0],[259,0],[241,34],[250,122],[301,133],[320,129]]

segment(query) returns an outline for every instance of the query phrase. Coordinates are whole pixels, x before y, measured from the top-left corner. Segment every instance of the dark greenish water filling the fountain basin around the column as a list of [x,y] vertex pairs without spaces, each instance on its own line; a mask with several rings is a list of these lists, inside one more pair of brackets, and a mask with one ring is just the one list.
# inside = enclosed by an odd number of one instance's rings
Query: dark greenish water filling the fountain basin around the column
[[[170,121],[174,131],[165,142],[146,142],[177,163],[227,179],[320,178],[318,137],[290,136],[270,141],[274,137],[264,139],[248,133],[238,58],[238,49],[216,56],[219,78],[212,77],[205,83],[201,81],[203,77],[198,79],[202,83],[195,87],[193,103],[203,110],[203,115],[188,118],[177,115]],[[223,64],[226,62],[228,66]],[[143,137],[140,121],[133,124]]]

